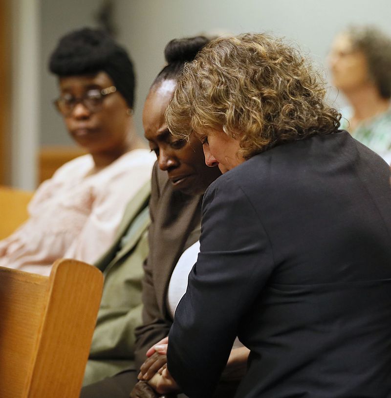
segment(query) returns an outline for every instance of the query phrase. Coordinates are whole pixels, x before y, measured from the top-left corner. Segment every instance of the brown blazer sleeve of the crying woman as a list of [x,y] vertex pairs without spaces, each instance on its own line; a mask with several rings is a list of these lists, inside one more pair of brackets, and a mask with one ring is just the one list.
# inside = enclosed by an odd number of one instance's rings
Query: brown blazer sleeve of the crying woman
[[142,282],[143,324],[135,330],[136,344],[134,356],[136,369],[139,369],[147,359],[146,354],[150,347],[162,338],[167,337],[171,327],[171,321],[164,319],[161,315],[156,299],[152,275],[153,266],[151,251],[153,250],[153,241],[155,239],[155,215],[163,188],[162,185],[164,185],[164,181],[160,181],[159,179],[158,165],[156,162],[152,171],[152,191],[150,200],[151,224],[148,237],[150,256],[144,264],[144,278]]

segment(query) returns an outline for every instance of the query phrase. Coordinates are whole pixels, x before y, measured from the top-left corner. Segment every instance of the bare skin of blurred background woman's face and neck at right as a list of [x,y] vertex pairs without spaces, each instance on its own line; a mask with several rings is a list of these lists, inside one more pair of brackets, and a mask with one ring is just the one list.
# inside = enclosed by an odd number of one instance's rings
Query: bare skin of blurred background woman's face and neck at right
[[333,84],[348,98],[353,109],[349,130],[387,111],[390,100],[383,98],[369,76],[365,55],[355,48],[346,33],[338,35],[328,57]]

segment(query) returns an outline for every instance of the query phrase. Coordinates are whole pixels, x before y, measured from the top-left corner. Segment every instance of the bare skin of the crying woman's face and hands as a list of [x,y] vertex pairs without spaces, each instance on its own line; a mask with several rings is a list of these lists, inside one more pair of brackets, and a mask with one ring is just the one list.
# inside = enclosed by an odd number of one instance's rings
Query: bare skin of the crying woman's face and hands
[[[156,153],[159,168],[168,173],[174,189],[188,195],[203,193],[220,172],[217,167],[210,168],[205,164],[202,144],[196,137],[190,141],[177,140],[169,130],[164,119],[164,112],[174,94],[175,80],[165,80],[153,86],[148,94],[143,111],[145,137],[150,148]],[[157,350],[156,350],[157,348]],[[147,383],[167,362],[165,347],[159,351],[154,346],[141,367],[139,381],[130,393],[130,398],[162,397]],[[163,397],[169,398],[170,395]]]

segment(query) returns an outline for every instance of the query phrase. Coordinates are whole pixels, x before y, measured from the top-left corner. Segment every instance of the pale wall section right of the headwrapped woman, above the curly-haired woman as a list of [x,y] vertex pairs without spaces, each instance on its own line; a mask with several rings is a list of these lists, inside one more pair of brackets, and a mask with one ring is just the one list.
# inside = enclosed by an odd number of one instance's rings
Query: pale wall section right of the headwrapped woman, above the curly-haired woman
[[374,23],[391,34],[390,15],[389,0],[119,0],[120,40],[130,48],[138,72],[138,129],[149,85],[163,65],[164,46],[174,37],[268,31],[296,41],[323,66],[336,32],[349,23]]

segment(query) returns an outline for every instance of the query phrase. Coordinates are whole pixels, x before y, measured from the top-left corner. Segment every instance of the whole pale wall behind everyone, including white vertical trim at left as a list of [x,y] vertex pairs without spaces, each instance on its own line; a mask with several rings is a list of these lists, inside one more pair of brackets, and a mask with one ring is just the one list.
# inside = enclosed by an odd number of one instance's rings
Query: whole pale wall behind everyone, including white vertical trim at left
[[[19,5],[12,39],[22,62],[15,67],[13,184],[31,189],[39,145],[68,145],[61,117],[52,106],[56,80],[47,58],[65,32],[95,26],[98,0],[13,0]],[[163,49],[174,37],[224,30],[234,34],[269,31],[296,41],[324,65],[330,42],[349,23],[374,23],[391,34],[389,0],[114,0],[118,40],[129,50],[137,73],[135,119],[153,77],[163,66]],[[14,43],[14,44],[15,44]],[[332,98],[336,93],[331,94]],[[337,98],[336,104],[341,104]],[[19,155],[16,155],[18,153]],[[22,154],[22,157],[20,156]]]

